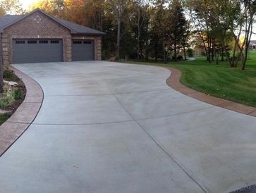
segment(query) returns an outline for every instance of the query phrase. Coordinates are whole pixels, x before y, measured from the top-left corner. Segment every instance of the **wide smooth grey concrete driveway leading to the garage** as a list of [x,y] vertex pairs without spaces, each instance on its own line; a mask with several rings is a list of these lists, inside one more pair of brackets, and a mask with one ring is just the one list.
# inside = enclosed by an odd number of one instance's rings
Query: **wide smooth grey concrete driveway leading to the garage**
[[186,97],[164,68],[14,67],[39,82],[34,123],[0,158],[0,192],[229,192],[256,183],[256,118]]

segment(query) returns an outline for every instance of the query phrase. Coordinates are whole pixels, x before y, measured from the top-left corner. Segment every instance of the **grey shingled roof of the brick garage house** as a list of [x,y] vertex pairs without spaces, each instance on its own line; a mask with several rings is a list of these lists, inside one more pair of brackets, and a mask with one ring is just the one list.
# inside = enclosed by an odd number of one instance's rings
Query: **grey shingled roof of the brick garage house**
[[13,25],[14,23],[17,23],[19,20],[22,20],[23,18],[27,17],[28,15],[31,15],[32,13],[35,13],[35,11],[40,11],[44,15],[47,15],[52,20],[56,21],[56,23],[59,23],[60,25],[63,25],[63,27],[68,28],[71,30],[71,34],[84,34],[84,35],[104,35],[104,32],[100,32],[98,30],[94,30],[90,27],[85,27],[84,25],[78,25],[77,23],[73,23],[68,20],[63,20],[60,18],[55,18],[44,11],[42,11],[39,8],[36,8],[34,11],[26,14],[26,15],[4,15],[0,17],[0,32],[4,32],[4,29],[10,25]]

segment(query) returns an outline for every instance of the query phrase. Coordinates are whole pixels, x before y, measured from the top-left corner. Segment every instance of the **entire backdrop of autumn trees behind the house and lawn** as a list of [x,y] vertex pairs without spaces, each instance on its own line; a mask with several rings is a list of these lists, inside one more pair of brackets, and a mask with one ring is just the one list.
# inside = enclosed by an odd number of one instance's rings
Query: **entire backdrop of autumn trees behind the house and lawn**
[[[18,0],[4,1],[9,2],[6,8],[12,3],[20,11]],[[245,69],[256,1],[39,0],[28,11],[37,7],[106,32],[103,59],[178,61],[186,59],[194,40],[209,63],[226,60]]]

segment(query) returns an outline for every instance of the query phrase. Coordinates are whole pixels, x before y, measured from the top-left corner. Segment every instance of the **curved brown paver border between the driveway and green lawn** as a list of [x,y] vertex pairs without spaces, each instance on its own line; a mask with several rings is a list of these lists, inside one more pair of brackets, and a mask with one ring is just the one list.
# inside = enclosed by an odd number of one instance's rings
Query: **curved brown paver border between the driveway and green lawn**
[[170,77],[166,80],[166,84],[169,87],[176,89],[176,91],[181,92],[182,94],[187,95],[188,97],[192,97],[194,99],[206,102],[207,104],[212,104],[214,106],[219,106],[221,108],[226,108],[231,111],[236,111],[238,113],[243,113],[249,116],[256,117],[256,108],[252,106],[246,106],[243,104],[238,104],[233,101],[228,101],[226,99],[220,99],[217,97],[212,97],[208,94],[204,94],[202,92],[198,92],[194,89],[190,89],[181,84],[181,71],[177,68],[166,67],[171,70]]

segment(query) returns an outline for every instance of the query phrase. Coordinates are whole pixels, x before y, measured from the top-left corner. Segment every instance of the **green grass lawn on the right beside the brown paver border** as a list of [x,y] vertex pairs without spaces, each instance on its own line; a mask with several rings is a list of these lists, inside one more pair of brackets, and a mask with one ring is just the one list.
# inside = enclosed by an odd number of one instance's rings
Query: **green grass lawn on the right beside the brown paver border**
[[[133,63],[133,62],[131,62]],[[205,58],[171,63],[140,63],[169,66],[182,72],[181,83],[205,94],[256,107],[256,52],[250,52],[246,70],[229,68],[226,62],[207,63]]]

